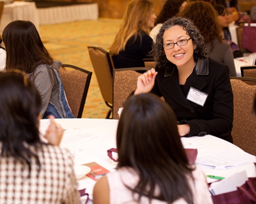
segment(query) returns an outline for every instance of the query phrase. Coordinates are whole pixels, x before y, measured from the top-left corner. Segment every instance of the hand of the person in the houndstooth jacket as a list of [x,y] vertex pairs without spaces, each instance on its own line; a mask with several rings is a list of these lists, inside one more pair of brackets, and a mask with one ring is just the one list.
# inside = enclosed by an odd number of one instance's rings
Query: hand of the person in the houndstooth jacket
[[50,119],[50,125],[46,131],[44,138],[46,138],[50,144],[59,146],[64,130],[59,124],[54,121],[53,115],[50,115],[48,118]]

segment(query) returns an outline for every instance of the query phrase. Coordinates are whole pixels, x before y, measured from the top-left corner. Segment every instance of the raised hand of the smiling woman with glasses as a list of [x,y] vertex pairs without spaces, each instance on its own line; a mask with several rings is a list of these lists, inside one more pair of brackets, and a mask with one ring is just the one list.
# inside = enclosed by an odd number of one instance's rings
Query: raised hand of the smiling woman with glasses
[[150,92],[155,84],[156,75],[157,71],[154,68],[139,75],[134,95]]

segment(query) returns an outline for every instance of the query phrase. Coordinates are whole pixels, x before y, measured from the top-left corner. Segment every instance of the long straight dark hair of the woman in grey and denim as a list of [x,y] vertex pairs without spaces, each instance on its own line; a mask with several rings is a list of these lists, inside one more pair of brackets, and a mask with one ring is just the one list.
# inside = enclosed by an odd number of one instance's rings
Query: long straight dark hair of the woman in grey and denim
[[20,69],[31,73],[40,64],[52,64],[35,25],[30,21],[15,20],[3,31],[6,47],[6,69]]

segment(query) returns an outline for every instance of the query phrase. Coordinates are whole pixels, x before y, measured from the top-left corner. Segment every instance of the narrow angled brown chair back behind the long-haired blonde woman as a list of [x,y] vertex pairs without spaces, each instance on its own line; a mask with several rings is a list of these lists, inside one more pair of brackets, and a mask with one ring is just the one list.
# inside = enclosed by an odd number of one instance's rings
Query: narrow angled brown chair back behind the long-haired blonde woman
[[[88,46],[90,59],[99,84],[101,95],[106,106],[110,107],[106,118],[110,118],[113,111],[113,69],[112,58],[106,50],[99,46]],[[113,115],[113,114],[112,114]]]

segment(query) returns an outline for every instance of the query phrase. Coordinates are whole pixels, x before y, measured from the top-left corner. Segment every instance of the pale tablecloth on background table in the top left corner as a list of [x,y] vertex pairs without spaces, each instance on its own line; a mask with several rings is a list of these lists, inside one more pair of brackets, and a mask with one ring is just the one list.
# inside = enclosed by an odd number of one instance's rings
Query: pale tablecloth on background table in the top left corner
[[0,22],[0,32],[3,33],[6,25],[14,20],[30,20],[39,32],[39,18],[35,2],[17,1],[5,4]]

